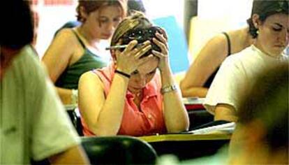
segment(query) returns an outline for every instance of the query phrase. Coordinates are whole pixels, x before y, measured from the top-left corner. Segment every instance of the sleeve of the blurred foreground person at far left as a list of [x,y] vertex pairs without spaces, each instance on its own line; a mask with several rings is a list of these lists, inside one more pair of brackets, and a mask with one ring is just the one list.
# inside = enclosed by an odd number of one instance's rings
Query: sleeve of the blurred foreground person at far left
[[78,145],[80,138],[38,59],[31,57],[27,67],[31,69],[27,97],[35,113],[31,126],[31,155],[40,160]]

